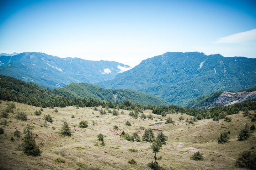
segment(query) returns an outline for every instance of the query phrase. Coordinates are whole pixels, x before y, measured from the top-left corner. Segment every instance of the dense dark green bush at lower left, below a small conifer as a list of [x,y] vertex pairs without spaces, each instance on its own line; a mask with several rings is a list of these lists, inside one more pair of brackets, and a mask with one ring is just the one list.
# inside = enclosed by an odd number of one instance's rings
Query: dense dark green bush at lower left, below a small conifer
[[42,151],[40,151],[39,147],[36,146],[36,142],[33,139],[25,139],[24,143],[21,144],[22,151],[26,155],[31,156],[39,156],[41,155]]

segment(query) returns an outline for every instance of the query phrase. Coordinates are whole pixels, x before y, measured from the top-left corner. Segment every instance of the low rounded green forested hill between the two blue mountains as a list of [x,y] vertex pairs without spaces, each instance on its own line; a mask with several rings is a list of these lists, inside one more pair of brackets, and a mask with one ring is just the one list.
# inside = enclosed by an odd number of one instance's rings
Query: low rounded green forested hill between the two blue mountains
[[148,103],[156,106],[169,105],[169,103],[164,101],[162,98],[144,92],[129,89],[104,89],[100,86],[89,83],[71,83],[63,88],[54,89],[53,93],[70,98],[74,98],[74,96],[82,98],[93,97],[96,100],[112,101],[116,103],[122,103],[125,100],[129,100],[143,105],[147,105]]

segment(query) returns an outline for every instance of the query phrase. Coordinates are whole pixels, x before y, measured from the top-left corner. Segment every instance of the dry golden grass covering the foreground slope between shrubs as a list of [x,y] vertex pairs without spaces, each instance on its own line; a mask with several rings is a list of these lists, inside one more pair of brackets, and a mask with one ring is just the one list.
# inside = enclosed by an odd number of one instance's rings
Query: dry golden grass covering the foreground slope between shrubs
[[[10,103],[10,102],[9,102]],[[8,102],[2,101],[1,110],[7,107]],[[244,123],[250,121],[247,117],[242,117],[242,114],[234,114],[229,117],[232,122],[213,122],[211,119],[203,119],[192,124],[186,124],[178,121],[180,114],[167,115],[176,121],[175,124],[162,124],[160,126],[149,126],[155,124],[155,119],[166,119],[160,115],[153,114],[154,120],[133,119],[124,111],[124,115],[113,116],[100,115],[98,111],[93,111],[94,108],[79,108],[66,107],[57,108],[58,113],[54,109],[44,109],[41,115],[36,116],[34,112],[39,110],[39,107],[28,106],[25,104],[15,103],[16,108],[14,113],[9,114],[7,126],[0,125],[4,128],[4,134],[0,135],[0,169],[78,169],[82,168],[98,168],[110,170],[140,170],[148,169],[146,164],[153,161],[154,154],[149,149],[151,143],[146,142],[129,142],[114,134],[110,130],[114,125],[117,125],[119,132],[123,130],[127,133],[138,131],[140,126],[145,129],[152,128],[162,130],[168,141],[162,147],[162,150],[157,153],[157,156],[162,156],[162,160],[158,163],[167,169],[239,169],[236,168],[235,158],[238,153],[251,148],[251,140],[255,139],[255,133],[247,141],[238,141],[237,135],[239,130],[244,126]],[[101,107],[98,107],[101,108]],[[111,109],[112,110],[112,109]],[[17,111],[24,111],[28,114],[27,121],[15,119]],[[94,114],[92,114],[94,112]],[[144,111],[146,115],[151,113],[151,110]],[[252,112],[251,112],[252,113]],[[53,118],[53,124],[48,123],[48,128],[39,126],[44,123],[43,115],[50,114]],[[71,115],[75,118],[71,118]],[[99,116],[99,118],[96,118]],[[183,115],[183,117],[191,118],[191,116]],[[2,121],[4,118],[1,118]],[[236,120],[239,119],[239,120]],[[59,134],[63,121],[67,121],[71,127],[72,136],[63,137]],[[75,130],[82,120],[88,121],[88,128]],[[129,120],[132,126],[126,126],[126,121]],[[95,125],[92,124],[95,121]],[[165,120],[164,120],[165,121]],[[36,143],[43,151],[39,157],[31,157],[18,151],[18,146],[23,142],[22,139],[14,137],[13,132],[18,129],[23,133],[23,128],[30,124],[34,126],[34,132],[38,134]],[[255,124],[250,122],[250,126]],[[52,126],[56,129],[53,130]],[[239,127],[237,127],[239,126]],[[16,128],[16,129],[15,129]],[[230,142],[218,144],[217,138],[220,132],[230,130]],[[139,132],[140,136],[143,132]],[[106,135],[104,138],[105,146],[100,146],[97,141],[97,135],[102,133]],[[23,136],[24,134],[22,134]],[[11,141],[11,137],[15,141]],[[54,136],[56,138],[54,138]],[[44,145],[40,145],[40,143]],[[98,146],[95,144],[98,143]],[[117,149],[119,148],[119,149]],[[130,152],[128,149],[138,149],[138,152]],[[107,153],[104,153],[107,151]],[[200,151],[204,154],[203,161],[191,160],[191,155]],[[56,158],[64,159],[66,163],[56,163]],[[128,160],[134,159],[137,165],[128,164]],[[79,164],[80,163],[80,164]],[[77,165],[78,164],[78,165]]]

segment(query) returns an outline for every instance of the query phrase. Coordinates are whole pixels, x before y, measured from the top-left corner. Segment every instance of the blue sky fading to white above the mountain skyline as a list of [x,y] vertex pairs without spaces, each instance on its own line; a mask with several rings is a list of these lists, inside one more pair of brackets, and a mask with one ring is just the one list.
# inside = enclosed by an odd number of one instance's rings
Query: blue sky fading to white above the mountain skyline
[[168,51],[256,57],[255,1],[0,2],[0,53],[118,61]]

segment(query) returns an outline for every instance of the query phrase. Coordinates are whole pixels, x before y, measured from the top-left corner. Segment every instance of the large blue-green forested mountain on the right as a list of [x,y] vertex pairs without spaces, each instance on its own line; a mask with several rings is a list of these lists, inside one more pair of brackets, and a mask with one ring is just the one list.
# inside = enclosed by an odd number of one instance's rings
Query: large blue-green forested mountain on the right
[[256,85],[256,58],[223,57],[199,52],[167,52],[143,60],[101,87],[147,92],[182,106],[186,100],[217,90]]

